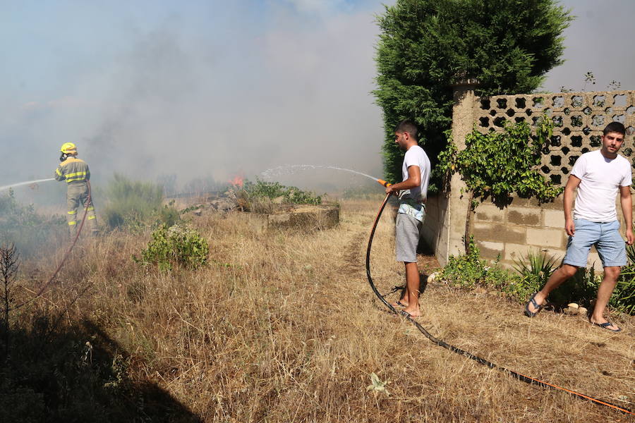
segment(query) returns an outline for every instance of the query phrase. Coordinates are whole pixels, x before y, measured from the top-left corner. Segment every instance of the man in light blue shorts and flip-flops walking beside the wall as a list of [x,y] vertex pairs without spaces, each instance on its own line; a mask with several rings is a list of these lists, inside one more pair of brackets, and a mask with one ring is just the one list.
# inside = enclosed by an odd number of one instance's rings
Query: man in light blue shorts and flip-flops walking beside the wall
[[[624,125],[609,123],[602,135],[602,147],[584,153],[571,169],[564,188],[564,230],[569,235],[567,254],[543,289],[535,293],[525,305],[527,317],[534,317],[545,305],[549,293],[560,286],[579,267],[585,267],[591,245],[595,245],[604,266],[604,277],[591,323],[603,329],[619,332],[621,329],[604,317],[606,305],[615,288],[620,266],[627,264],[626,248],[619,235],[619,222],[615,211],[615,196],[619,191],[622,214],[626,223],[627,244],[634,241],[632,229],[631,164],[617,154],[624,143]],[[576,206],[571,214],[574,191]]]

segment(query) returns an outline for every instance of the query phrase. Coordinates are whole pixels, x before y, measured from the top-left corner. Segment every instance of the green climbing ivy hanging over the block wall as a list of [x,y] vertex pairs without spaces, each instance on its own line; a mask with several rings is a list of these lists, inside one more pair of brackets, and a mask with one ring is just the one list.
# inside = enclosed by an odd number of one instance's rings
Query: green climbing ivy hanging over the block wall
[[[541,119],[535,134],[526,122],[507,123],[502,132],[483,134],[474,129],[467,135],[466,147],[461,151],[448,131],[449,142],[439,154],[437,171],[447,176],[458,172],[474,199],[491,197],[501,207],[509,204],[514,193],[548,202],[562,192],[561,187],[553,185],[537,170],[552,128],[550,120]],[[475,208],[478,201],[471,205]]]

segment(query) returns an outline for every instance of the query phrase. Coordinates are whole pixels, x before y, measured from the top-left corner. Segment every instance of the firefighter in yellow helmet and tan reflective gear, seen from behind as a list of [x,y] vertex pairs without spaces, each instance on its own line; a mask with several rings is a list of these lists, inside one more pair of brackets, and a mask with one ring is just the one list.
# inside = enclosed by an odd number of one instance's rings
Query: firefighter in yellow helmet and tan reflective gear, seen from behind
[[88,180],[90,170],[85,161],[77,158],[77,147],[72,142],[65,142],[61,148],[61,163],[55,170],[56,180],[66,180],[66,204],[68,204],[68,229],[71,236],[77,232],[79,204],[87,210],[86,220],[90,231],[97,235],[97,220],[95,219],[95,207],[92,206],[92,197],[88,196]]

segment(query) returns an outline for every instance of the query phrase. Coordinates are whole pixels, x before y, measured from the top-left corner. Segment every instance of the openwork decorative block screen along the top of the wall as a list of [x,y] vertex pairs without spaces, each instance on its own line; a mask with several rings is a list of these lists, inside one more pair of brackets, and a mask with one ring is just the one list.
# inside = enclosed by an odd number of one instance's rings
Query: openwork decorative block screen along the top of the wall
[[474,104],[476,128],[483,133],[502,130],[504,122],[527,121],[541,116],[554,123],[550,145],[543,149],[540,171],[562,185],[581,154],[601,145],[602,130],[612,121],[627,128],[620,150],[635,167],[635,91],[567,92],[480,97]]

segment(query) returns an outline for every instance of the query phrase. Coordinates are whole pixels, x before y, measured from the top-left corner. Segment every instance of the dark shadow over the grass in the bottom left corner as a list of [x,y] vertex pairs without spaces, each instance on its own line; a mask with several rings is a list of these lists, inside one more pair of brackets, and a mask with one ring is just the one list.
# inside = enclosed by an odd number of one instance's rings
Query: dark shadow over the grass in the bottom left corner
[[131,356],[92,321],[2,333],[0,422],[201,422],[159,386],[128,379]]

